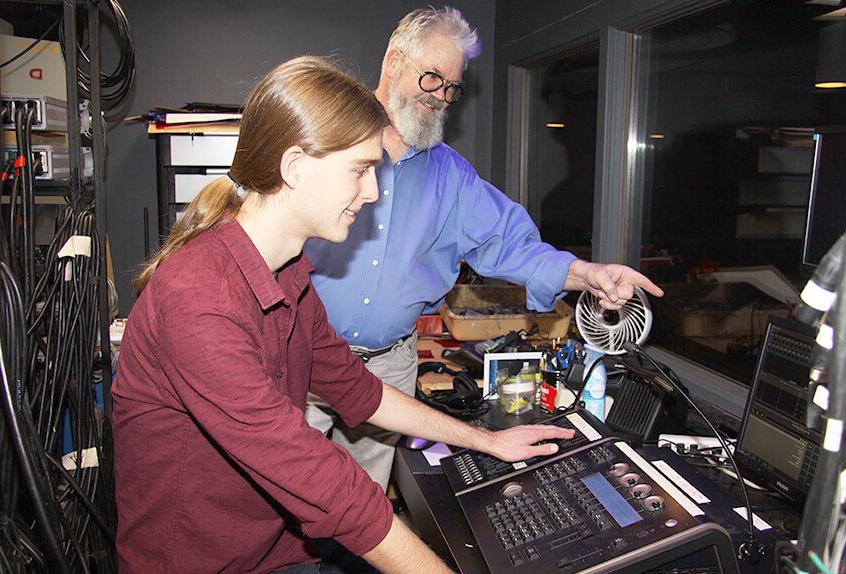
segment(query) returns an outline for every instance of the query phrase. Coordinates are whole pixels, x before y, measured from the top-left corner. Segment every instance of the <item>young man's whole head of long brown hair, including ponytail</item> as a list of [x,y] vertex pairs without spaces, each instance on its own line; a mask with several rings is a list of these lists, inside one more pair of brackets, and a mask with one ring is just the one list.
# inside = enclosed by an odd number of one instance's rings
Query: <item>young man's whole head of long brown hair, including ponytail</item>
[[277,193],[285,183],[279,164],[286,149],[298,145],[319,158],[348,149],[387,125],[376,96],[331,60],[301,56],[280,64],[247,97],[230,176],[214,180],[194,198],[133,281],[135,292],[141,293],[174,251],[238,213],[243,200],[235,181],[262,197]]

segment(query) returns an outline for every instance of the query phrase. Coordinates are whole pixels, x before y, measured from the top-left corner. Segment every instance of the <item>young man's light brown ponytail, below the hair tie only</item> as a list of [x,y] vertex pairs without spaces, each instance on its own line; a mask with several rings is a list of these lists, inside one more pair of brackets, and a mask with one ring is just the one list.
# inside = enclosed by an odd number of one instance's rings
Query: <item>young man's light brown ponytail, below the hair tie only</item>
[[174,251],[200,233],[211,229],[222,219],[235,215],[242,202],[235,183],[227,176],[219,177],[206,185],[188,204],[184,215],[171,227],[165,244],[144,264],[132,282],[135,294],[141,294],[153,272]]

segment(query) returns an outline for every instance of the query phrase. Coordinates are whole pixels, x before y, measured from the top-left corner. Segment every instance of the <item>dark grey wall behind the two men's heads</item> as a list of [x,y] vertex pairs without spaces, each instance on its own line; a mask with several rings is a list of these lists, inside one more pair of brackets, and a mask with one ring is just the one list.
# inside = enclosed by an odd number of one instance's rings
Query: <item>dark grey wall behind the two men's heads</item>
[[[388,36],[407,12],[426,5],[408,0],[122,0],[136,46],[137,80],[128,114],[190,101],[241,102],[265,72],[300,54],[334,54],[376,87]],[[468,96],[450,108],[447,142],[483,177],[490,176],[494,0],[459,0],[479,31],[482,55],[467,70]],[[105,67],[114,42],[104,38]],[[133,268],[144,259],[143,210],[156,236],[155,144],[142,124],[107,134],[109,241],[120,311],[129,313]]]

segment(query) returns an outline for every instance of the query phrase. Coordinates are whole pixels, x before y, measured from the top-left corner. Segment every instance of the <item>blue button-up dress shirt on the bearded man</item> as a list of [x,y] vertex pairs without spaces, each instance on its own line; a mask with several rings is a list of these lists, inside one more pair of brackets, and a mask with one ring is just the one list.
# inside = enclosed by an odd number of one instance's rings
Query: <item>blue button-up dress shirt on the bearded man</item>
[[312,282],[350,345],[380,349],[414,330],[455,284],[461,260],[484,277],[526,286],[532,310],[563,296],[575,257],[540,240],[523,207],[446,144],[409,148],[377,168],[379,200],[342,244],[306,242]]

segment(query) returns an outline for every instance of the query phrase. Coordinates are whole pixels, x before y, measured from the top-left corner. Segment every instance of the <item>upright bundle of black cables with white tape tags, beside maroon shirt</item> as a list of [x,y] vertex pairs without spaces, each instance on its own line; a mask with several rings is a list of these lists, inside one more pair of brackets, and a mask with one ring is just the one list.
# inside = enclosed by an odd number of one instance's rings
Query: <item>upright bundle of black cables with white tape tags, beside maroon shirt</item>
[[[114,542],[109,521],[93,503],[98,491],[111,491],[99,472],[99,461],[110,455],[103,449],[107,424],[96,404],[93,376],[101,260],[97,246],[94,215],[67,209],[33,294],[32,301],[39,303],[27,308],[30,333],[40,333],[35,354],[43,359],[33,356],[31,362],[33,420],[48,462],[68,487],[61,500],[65,526],[73,535],[65,550],[80,558]],[[65,418],[70,437],[63,434]],[[73,451],[60,462],[56,453],[62,442],[70,442]],[[109,506],[104,505],[107,514]]]

